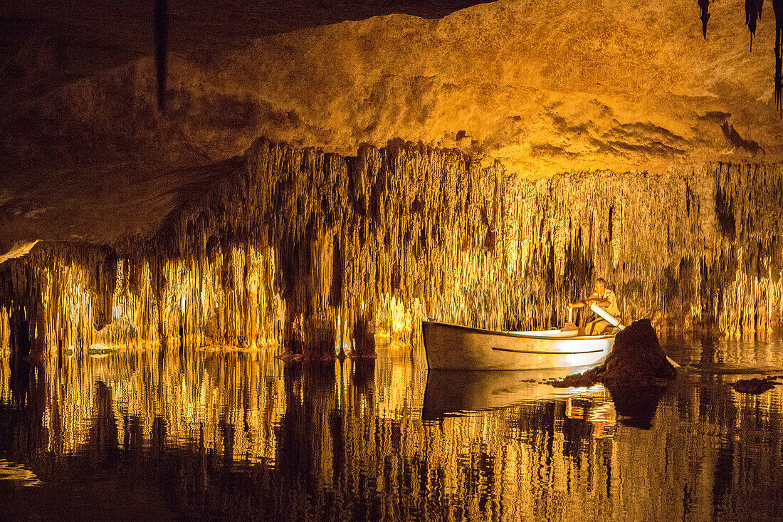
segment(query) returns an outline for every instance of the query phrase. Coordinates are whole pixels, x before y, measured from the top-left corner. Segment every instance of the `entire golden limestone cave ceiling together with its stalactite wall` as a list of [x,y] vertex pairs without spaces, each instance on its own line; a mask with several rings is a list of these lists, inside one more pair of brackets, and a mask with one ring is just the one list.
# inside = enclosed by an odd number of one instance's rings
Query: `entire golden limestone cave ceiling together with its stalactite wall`
[[165,111],[142,18],[4,5],[0,339],[371,354],[560,324],[597,276],[659,328],[780,324],[773,17],[436,3],[172,7]]

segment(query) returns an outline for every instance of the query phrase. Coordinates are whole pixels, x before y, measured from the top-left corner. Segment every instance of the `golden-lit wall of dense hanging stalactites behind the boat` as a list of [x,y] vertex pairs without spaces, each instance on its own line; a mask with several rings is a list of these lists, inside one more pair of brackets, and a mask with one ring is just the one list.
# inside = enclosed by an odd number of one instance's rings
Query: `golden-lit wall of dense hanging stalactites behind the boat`
[[245,159],[154,237],[40,244],[4,263],[0,336],[21,351],[25,339],[50,352],[282,343],[330,358],[352,341],[367,355],[373,332],[416,344],[423,317],[561,324],[594,277],[619,292],[626,322],[766,332],[781,321],[778,165],[531,180],[453,150],[344,158],[266,140]]

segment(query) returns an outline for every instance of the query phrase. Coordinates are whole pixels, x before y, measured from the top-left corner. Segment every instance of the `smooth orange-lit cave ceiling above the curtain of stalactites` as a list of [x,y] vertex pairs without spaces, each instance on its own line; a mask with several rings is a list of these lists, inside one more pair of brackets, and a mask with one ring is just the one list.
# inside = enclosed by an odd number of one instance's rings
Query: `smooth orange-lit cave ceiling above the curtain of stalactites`
[[170,2],[161,111],[153,2],[5,2],[0,261],[146,234],[261,136],[519,176],[779,161],[774,5]]

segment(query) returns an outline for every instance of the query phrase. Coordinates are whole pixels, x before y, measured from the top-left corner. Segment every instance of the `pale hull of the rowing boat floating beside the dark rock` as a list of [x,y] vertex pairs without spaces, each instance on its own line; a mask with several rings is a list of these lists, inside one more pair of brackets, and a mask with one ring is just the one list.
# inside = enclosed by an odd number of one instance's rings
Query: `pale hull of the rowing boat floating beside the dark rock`
[[422,321],[428,368],[530,370],[588,366],[604,360],[614,335],[566,332],[493,332],[458,324]]

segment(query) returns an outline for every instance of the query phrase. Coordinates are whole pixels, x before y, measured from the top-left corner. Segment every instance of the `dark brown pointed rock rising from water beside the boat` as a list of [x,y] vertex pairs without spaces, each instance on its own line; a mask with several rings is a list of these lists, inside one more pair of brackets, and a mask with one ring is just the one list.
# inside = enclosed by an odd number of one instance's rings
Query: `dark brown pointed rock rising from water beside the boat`
[[608,388],[648,387],[666,384],[675,377],[677,370],[666,359],[655,328],[649,319],[640,319],[617,334],[604,364],[551,384],[559,388],[592,386],[598,382]]

